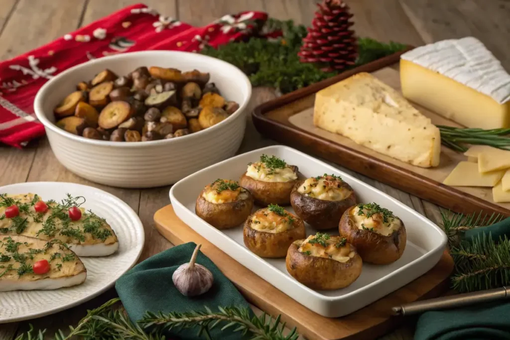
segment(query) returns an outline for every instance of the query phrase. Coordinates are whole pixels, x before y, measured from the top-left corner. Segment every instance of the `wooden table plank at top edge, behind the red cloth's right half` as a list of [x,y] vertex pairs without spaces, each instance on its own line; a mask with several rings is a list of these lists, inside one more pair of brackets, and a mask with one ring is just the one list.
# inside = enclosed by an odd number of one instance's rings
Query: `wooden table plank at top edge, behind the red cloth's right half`
[[263,0],[179,0],[179,20],[205,25],[226,14],[241,11],[264,11]]

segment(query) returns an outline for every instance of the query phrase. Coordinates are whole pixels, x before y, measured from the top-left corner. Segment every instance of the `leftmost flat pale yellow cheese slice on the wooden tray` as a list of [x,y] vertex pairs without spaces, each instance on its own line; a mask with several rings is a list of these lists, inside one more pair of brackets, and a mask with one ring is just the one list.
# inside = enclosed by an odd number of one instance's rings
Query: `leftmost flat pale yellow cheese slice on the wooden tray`
[[476,163],[459,162],[443,184],[453,187],[494,187],[504,173],[503,170],[479,173]]

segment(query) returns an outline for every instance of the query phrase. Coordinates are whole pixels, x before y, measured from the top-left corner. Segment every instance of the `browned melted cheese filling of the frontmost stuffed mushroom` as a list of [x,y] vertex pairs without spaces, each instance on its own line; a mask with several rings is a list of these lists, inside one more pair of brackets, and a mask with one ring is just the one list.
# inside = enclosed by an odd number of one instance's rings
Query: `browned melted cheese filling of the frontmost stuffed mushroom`
[[319,243],[309,243],[313,239],[315,239],[315,235],[310,235],[297,250],[300,253],[307,253],[309,256],[331,258],[342,263],[347,262],[356,254],[348,243],[337,247],[341,240],[338,236],[331,236],[329,240],[325,240],[325,247]]

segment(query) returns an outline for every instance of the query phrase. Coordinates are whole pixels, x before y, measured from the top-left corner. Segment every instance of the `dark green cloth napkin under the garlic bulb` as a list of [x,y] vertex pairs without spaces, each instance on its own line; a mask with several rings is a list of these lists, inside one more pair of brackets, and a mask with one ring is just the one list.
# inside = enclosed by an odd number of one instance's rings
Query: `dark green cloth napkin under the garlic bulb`
[[[147,258],[117,280],[115,289],[131,320],[140,320],[146,311],[184,312],[205,310],[204,306],[212,310],[218,310],[218,306],[249,308],[248,303],[232,282],[202,252],[198,252],[196,263],[205,266],[213,273],[213,286],[209,292],[191,298],[177,291],[173,285],[172,274],[177,267],[189,262],[195,247],[196,244],[190,242],[165,250]],[[243,339],[240,333],[232,333],[232,328],[223,332],[220,328],[221,324],[212,331],[213,339]],[[172,339],[203,339],[202,336],[197,336],[197,332],[198,328],[172,329],[166,335]]]

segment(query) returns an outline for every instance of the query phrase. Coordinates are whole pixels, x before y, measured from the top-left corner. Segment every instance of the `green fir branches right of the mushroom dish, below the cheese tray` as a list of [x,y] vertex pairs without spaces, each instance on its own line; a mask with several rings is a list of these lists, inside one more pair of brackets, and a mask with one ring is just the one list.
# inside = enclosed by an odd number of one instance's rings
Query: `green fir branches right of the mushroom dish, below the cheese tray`
[[498,242],[486,234],[469,241],[462,239],[466,230],[492,225],[504,216],[445,212],[441,216],[455,264],[451,276],[454,290],[468,293],[510,284],[510,240],[506,236]]

